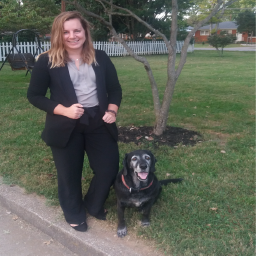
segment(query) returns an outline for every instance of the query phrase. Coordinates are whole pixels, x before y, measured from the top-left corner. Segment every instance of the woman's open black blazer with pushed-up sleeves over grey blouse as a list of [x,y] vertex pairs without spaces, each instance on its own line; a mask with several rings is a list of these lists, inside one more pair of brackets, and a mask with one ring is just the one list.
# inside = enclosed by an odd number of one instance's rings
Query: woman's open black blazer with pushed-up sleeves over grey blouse
[[[96,75],[99,108],[103,116],[108,104],[120,106],[122,90],[116,69],[107,54],[95,50],[95,57],[97,64],[92,64],[92,67]],[[48,88],[50,98],[45,96]],[[48,54],[42,54],[33,68],[27,97],[31,104],[47,112],[42,139],[48,146],[65,147],[77,120],[55,115],[53,110],[58,104],[70,107],[78,103],[67,65],[50,68]],[[105,123],[105,125],[117,140],[116,124]]]

